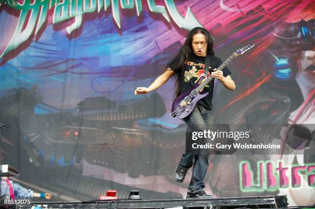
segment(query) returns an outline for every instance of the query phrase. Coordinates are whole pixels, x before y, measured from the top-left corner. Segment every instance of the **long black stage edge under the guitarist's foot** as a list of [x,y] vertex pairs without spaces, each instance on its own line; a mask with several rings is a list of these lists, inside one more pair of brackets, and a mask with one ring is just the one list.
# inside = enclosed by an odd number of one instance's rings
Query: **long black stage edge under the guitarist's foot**
[[[234,197],[214,199],[169,199],[169,200],[114,200],[86,202],[33,202],[32,205],[17,205],[16,208],[279,208],[287,207],[286,196]],[[212,207],[211,207],[212,206]],[[34,208],[34,207],[33,207]]]

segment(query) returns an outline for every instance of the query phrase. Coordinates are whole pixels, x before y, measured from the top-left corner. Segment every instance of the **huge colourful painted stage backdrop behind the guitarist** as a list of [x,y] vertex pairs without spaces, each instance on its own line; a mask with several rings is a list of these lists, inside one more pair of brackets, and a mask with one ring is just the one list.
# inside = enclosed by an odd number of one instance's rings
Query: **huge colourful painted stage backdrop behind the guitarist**
[[223,61],[255,44],[229,65],[236,90],[215,82],[217,134],[237,144],[250,131],[247,144],[281,147],[212,154],[205,191],[314,204],[312,1],[1,0],[0,123],[10,126],[1,154],[21,172],[15,181],[54,201],[107,189],[185,197],[191,170],[184,183],[173,179],[186,132],[169,116],[175,80],[147,95],[134,89],[163,73],[198,26]]

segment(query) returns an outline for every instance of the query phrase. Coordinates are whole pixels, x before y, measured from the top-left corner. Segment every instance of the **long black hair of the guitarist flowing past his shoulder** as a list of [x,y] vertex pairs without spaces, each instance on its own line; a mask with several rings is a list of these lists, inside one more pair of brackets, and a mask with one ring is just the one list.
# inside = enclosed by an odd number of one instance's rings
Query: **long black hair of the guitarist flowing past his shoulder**
[[183,44],[179,52],[176,54],[176,56],[172,60],[170,60],[167,63],[167,66],[166,66],[166,69],[170,68],[176,71],[176,73],[174,73],[174,77],[176,77],[176,84],[175,84],[176,90],[174,94],[175,97],[177,97],[180,93],[180,81],[179,81],[180,70],[179,69],[184,66],[185,61],[187,61],[189,56],[194,53],[193,48],[191,47],[191,43],[193,42],[193,36],[198,33],[202,33],[206,37],[207,54],[214,55],[213,39],[210,33],[205,28],[202,28],[202,27],[196,27],[196,28],[191,29],[186,37],[185,43]]

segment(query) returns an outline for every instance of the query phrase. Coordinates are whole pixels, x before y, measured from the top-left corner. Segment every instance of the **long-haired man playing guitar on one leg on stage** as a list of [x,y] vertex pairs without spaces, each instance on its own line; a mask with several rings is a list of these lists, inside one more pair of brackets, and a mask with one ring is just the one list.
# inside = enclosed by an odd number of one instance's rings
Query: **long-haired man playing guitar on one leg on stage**
[[[185,43],[175,58],[168,62],[165,72],[156,78],[149,87],[137,87],[134,94],[146,94],[158,89],[172,75],[177,77],[177,96],[190,90],[204,73],[205,57],[207,54],[210,55],[207,76],[211,73],[213,78],[218,79],[225,88],[234,90],[235,84],[230,77],[231,71],[226,67],[222,71],[216,71],[216,68],[222,64],[222,61],[214,55],[211,35],[205,28],[196,27],[188,33]],[[189,116],[183,119],[188,128],[202,131],[209,124],[213,123],[211,113],[213,89],[214,80],[208,83],[202,90],[208,91],[209,94],[198,102]],[[211,195],[207,195],[203,191],[205,187],[203,179],[209,166],[208,157],[208,155],[201,155],[187,150],[182,155],[179,165],[174,172],[174,179],[177,182],[182,183],[187,170],[194,165],[186,198],[212,198]]]

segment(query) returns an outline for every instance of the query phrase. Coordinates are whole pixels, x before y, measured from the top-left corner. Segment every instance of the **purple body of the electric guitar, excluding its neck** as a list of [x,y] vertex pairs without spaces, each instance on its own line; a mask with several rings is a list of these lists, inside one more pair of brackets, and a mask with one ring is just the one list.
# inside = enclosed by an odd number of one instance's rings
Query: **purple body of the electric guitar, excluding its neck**
[[[191,99],[191,101],[189,103],[187,103],[186,106],[181,107],[180,103],[182,102],[182,100],[187,97],[191,91],[195,90],[197,87],[199,86],[199,84],[197,83],[193,89],[186,91],[185,93],[181,94],[178,98],[175,99],[175,101],[172,104],[172,115],[173,117],[177,117],[179,119],[183,119],[186,118],[187,116],[190,115],[191,112],[193,112],[197,102],[199,100],[201,100],[202,98],[206,97],[209,92],[199,92],[193,99]],[[188,96],[189,97],[189,96]]]

